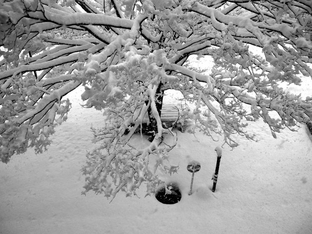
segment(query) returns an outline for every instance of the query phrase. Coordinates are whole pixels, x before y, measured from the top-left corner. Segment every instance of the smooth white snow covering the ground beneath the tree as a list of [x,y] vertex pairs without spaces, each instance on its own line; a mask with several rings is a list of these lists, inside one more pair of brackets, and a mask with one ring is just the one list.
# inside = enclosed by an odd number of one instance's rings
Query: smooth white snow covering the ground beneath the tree
[[[301,87],[311,91],[312,86]],[[103,126],[100,111],[81,107],[83,89],[69,94],[72,109],[56,128],[48,151],[33,149],[0,164],[0,234],[312,234],[312,141],[306,127],[274,139],[263,122],[250,126],[259,142],[240,139],[222,148],[216,191],[211,192],[221,146],[201,133],[178,132],[170,162],[178,174],[181,201],[165,205],[154,196],[125,197],[109,203],[92,191],[81,195],[80,171],[95,145],[90,127]],[[174,102],[174,95],[167,98]],[[140,138],[138,138],[140,140]],[[191,160],[201,163],[188,195]]]

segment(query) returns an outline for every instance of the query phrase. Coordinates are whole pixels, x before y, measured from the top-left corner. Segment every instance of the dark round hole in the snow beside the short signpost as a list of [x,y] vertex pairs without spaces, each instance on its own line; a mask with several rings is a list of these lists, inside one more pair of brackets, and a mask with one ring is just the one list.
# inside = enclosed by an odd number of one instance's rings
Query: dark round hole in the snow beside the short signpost
[[160,187],[155,194],[156,199],[163,204],[175,204],[181,200],[181,192],[175,183],[167,185],[167,193],[165,186]]

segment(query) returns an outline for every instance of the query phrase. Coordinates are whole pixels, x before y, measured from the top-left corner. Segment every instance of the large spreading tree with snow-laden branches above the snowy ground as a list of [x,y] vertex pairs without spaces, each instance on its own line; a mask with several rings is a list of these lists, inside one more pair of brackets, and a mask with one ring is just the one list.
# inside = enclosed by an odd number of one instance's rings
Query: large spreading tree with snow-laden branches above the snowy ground
[[[255,140],[248,121],[263,119],[273,137],[294,130],[312,120],[312,97],[281,85],[311,79],[311,15],[310,0],[0,0],[1,161],[46,149],[70,110],[63,96],[80,85],[85,107],[107,117],[83,168],[85,191],[105,196],[142,183],[151,194],[158,169],[177,170],[165,163],[175,143],[163,139],[176,139],[160,120],[167,89],[195,102],[178,121],[231,147],[237,136]],[[213,68],[193,68],[191,55]],[[137,149],[145,115],[154,136]]]

